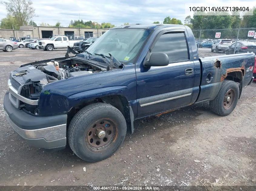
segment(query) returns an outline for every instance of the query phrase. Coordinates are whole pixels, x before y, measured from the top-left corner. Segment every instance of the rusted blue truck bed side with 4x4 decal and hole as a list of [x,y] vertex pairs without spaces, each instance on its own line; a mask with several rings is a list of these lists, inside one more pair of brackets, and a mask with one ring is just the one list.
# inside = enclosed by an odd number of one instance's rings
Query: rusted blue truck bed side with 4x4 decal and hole
[[231,54],[199,58],[201,63],[200,93],[196,103],[212,100],[218,94],[221,82],[241,72],[243,86],[250,83],[254,67],[254,53]]

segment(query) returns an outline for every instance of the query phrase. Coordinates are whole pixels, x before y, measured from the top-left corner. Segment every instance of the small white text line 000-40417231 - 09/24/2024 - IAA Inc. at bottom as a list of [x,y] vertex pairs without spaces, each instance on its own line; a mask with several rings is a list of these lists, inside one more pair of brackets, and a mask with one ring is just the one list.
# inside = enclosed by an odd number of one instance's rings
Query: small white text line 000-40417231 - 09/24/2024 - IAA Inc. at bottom
[[159,190],[156,186],[94,186],[94,190]]

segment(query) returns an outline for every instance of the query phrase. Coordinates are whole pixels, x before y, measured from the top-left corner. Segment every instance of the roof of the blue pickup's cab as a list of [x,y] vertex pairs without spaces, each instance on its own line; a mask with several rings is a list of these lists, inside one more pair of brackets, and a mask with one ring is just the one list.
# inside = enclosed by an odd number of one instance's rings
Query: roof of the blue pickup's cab
[[166,27],[181,27],[185,29],[184,25],[179,24],[131,24],[131,25],[121,25],[117,27],[113,27],[111,29],[118,29],[118,28],[138,28],[138,29],[151,29],[154,30],[156,28],[166,28]]

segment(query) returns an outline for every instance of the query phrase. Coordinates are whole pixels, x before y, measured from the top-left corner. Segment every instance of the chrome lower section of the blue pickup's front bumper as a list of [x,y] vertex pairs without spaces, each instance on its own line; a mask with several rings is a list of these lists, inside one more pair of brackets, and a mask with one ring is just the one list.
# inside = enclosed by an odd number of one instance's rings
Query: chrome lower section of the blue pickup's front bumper
[[66,138],[67,124],[46,127],[43,129],[27,130],[27,129],[21,129],[15,123],[13,123],[6,112],[5,112],[5,115],[6,115],[6,119],[8,120],[12,128],[15,130],[15,132],[17,132],[23,138],[28,138],[28,139],[44,138],[46,141],[54,141],[54,140]]

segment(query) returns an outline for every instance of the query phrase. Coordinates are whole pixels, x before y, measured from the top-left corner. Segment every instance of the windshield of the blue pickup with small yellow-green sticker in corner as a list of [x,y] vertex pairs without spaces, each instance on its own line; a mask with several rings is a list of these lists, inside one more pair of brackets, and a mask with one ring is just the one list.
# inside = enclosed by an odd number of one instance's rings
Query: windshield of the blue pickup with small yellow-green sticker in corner
[[99,37],[87,50],[92,55],[113,55],[120,62],[131,62],[149,36],[149,29],[111,29]]

